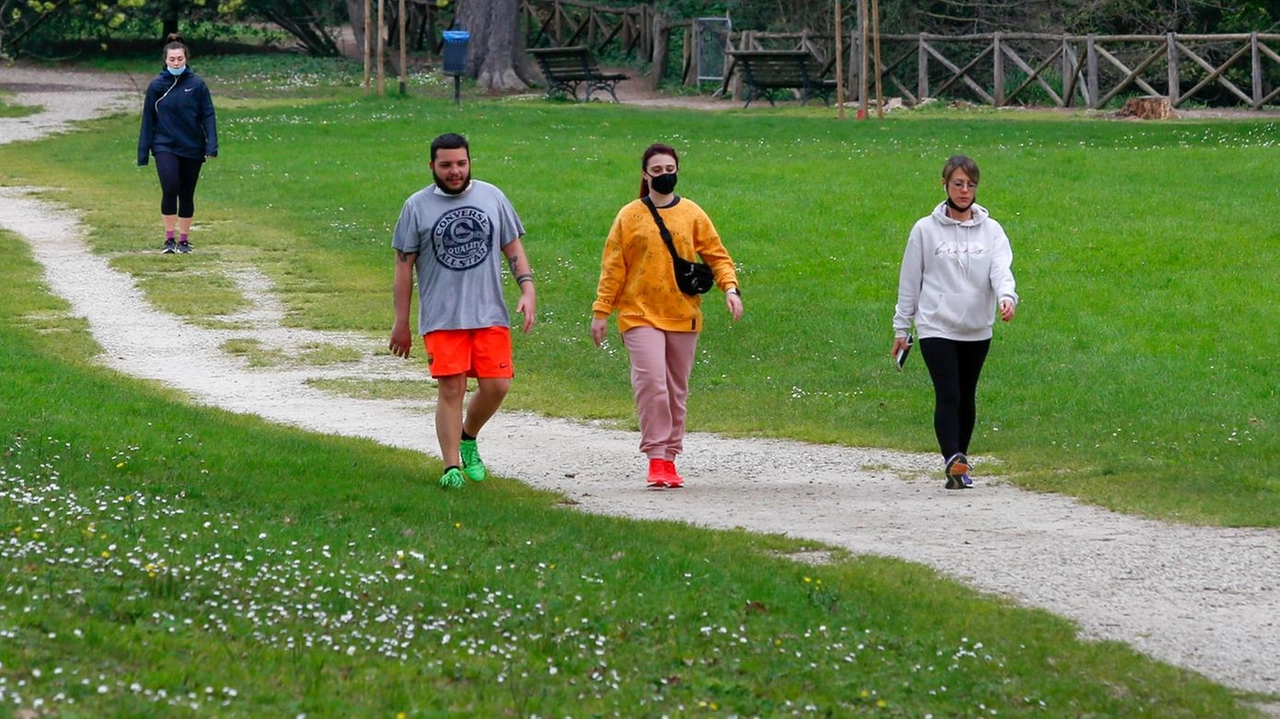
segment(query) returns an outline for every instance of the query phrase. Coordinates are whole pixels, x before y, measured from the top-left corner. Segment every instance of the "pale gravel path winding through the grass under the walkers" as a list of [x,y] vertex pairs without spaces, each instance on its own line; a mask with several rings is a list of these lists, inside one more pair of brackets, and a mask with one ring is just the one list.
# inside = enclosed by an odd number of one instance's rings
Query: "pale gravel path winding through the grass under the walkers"
[[[0,119],[0,145],[119,107],[136,111],[140,93],[128,78],[60,74],[55,83],[47,77],[0,69],[0,91],[22,92],[18,101],[45,107]],[[40,92],[28,92],[33,88]],[[0,228],[31,244],[49,288],[72,313],[87,317],[104,365],[178,388],[195,402],[438,454],[429,406],[335,397],[306,384],[308,377],[425,377],[420,357],[406,363],[385,354],[381,340],[282,328],[270,281],[244,267],[229,275],[253,298],[251,311],[228,319],[227,328],[184,324],[147,304],[133,279],[106,258],[69,242],[84,235],[79,219],[32,192],[0,187]],[[232,338],[285,352],[308,342],[342,344],[360,348],[365,360],[251,370],[220,349]],[[175,366],[184,371],[166,370]],[[406,425],[420,431],[406,436]],[[1280,531],[1139,519],[991,477],[973,491],[946,491],[932,454],[692,434],[681,461],[686,489],[649,493],[635,432],[502,412],[485,429],[484,448],[495,472],[559,491],[586,512],[745,527],[922,562],[1069,617],[1087,637],[1124,641],[1226,686],[1280,695]],[[773,471],[800,466],[803,476]],[[1280,716],[1280,696],[1265,709]]]

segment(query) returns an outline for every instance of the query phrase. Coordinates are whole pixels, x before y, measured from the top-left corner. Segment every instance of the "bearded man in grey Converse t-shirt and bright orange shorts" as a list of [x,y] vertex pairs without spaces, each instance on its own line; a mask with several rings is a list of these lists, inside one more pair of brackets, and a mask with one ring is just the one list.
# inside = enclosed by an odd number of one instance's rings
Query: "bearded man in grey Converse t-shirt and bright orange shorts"
[[[534,275],[521,237],[525,226],[507,196],[471,179],[471,148],[460,134],[431,142],[435,183],[404,201],[392,247],[396,249],[396,325],[390,351],[408,357],[408,325],[417,273],[417,334],[436,379],[435,435],[444,476],[440,486],[460,487],[466,477],[486,476],[476,435],[502,406],[515,376],[511,321],[502,296],[502,260],[520,285],[516,312],[524,331],[534,326]],[[477,390],[462,415],[467,377]]]

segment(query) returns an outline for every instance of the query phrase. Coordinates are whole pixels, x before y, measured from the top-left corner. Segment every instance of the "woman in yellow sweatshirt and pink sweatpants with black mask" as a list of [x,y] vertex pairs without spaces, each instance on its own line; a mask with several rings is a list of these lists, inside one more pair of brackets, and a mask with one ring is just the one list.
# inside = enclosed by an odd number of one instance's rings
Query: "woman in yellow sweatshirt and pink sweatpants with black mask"
[[703,209],[676,194],[680,156],[673,147],[654,143],[640,161],[640,200],[628,202],[613,219],[600,260],[600,283],[591,306],[591,339],[604,342],[609,315],[618,313],[618,331],[631,354],[631,389],[640,420],[640,452],[649,458],[649,487],[680,487],[676,455],[685,445],[689,375],[694,368],[698,333],[703,329],[703,298],[676,285],[667,249],[645,198],[657,207],[685,260],[701,257],[733,320],[742,317],[733,258],[721,243]]

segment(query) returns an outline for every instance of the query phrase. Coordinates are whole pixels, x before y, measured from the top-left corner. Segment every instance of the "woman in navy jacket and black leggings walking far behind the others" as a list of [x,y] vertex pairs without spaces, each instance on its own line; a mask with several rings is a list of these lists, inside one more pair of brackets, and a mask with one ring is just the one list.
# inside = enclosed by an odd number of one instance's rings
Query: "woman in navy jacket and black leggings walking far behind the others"
[[[207,157],[218,156],[218,127],[209,86],[187,67],[191,52],[182,36],[170,35],[164,46],[165,68],[151,81],[142,105],[138,166],[155,155],[160,175],[160,216],[164,252],[191,252],[187,239],[196,214],[196,182]],[[174,241],[174,229],[178,239]]]

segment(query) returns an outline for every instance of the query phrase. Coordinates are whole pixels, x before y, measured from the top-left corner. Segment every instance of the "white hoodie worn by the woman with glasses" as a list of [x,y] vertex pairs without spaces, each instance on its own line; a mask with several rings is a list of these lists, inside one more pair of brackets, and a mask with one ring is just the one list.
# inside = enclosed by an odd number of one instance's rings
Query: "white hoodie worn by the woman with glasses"
[[906,336],[915,322],[923,338],[960,342],[991,339],[1000,299],[1018,303],[1010,266],[1014,251],[1000,223],[973,205],[964,223],[947,216],[947,203],[911,228],[897,280],[893,333]]

